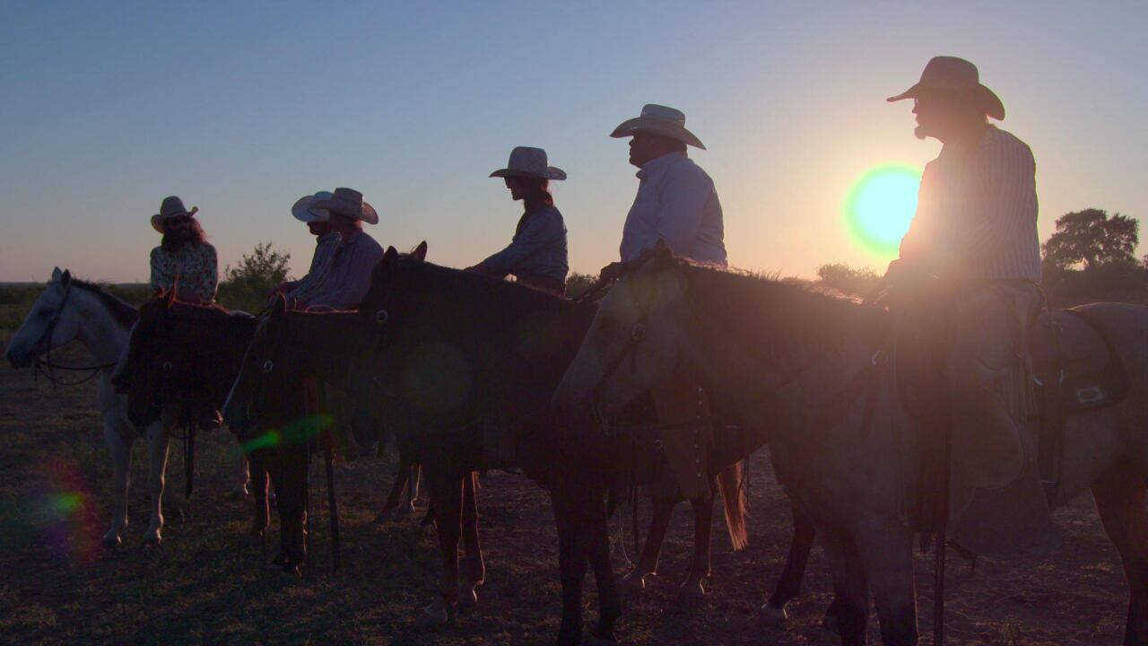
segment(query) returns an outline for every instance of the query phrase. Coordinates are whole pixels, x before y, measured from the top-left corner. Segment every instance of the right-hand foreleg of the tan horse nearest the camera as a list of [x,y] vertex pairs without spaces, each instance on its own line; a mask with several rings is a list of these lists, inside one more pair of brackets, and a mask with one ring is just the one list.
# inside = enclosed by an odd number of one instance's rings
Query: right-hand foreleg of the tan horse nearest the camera
[[[913,578],[913,535],[898,523],[861,532],[856,552],[872,591],[884,646],[917,643],[917,595]],[[868,605],[868,599],[867,599]],[[838,614],[844,622],[844,608]],[[844,629],[843,629],[844,631]]]

